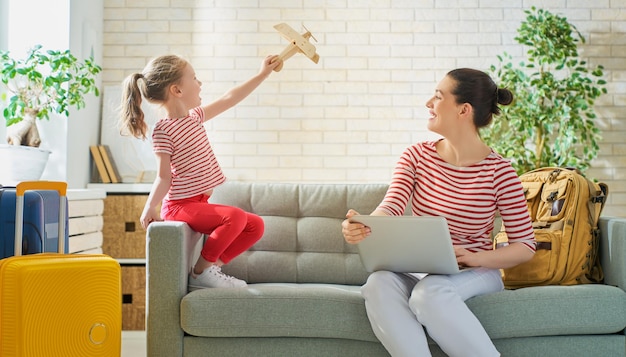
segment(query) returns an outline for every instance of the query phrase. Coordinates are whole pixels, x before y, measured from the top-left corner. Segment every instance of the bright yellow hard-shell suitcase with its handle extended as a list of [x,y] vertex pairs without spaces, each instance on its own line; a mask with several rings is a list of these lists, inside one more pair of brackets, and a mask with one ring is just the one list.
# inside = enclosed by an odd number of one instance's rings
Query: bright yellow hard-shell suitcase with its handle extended
[[[0,260],[0,356],[98,357],[121,354],[119,263],[103,254],[21,255],[24,191],[58,190],[65,235],[64,182],[17,185],[15,256]],[[59,239],[59,252],[64,251]]]

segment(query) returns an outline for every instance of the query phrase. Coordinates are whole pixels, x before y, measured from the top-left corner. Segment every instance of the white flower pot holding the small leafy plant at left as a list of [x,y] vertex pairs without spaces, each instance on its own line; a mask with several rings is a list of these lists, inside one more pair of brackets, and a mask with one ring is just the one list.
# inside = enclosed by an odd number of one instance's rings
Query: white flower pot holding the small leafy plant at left
[[15,186],[21,181],[39,180],[49,156],[49,150],[0,145],[0,185]]

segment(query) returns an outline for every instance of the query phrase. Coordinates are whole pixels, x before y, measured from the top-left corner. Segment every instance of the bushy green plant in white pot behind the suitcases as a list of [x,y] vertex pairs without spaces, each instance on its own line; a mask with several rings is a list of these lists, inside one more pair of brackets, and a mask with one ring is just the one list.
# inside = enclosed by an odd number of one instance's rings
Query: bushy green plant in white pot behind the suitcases
[[[69,50],[44,51],[41,45],[29,50],[24,59],[14,59],[6,51],[0,52],[0,58],[0,81],[5,88],[2,113],[9,144],[0,147],[5,172],[0,183],[37,180],[50,153],[33,149],[41,143],[37,119],[49,120],[52,113],[67,116],[70,107],[83,108],[87,95],[100,94],[96,77],[102,68],[92,58],[79,61]],[[11,172],[15,170],[22,173]]]

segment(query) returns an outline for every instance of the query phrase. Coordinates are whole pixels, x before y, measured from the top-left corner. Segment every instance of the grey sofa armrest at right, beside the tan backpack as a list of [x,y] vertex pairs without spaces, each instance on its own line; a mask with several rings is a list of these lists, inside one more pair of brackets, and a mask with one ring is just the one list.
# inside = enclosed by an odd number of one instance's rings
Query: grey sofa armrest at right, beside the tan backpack
[[600,217],[599,226],[604,283],[626,291],[626,218]]

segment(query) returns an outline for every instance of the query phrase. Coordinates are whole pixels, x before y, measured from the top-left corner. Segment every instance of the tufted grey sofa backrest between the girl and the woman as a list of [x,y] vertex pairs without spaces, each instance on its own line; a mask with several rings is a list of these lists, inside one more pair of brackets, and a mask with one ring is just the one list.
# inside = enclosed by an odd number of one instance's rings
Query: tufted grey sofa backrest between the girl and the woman
[[211,202],[240,207],[263,218],[263,237],[224,266],[248,283],[361,285],[367,272],[356,245],[345,242],[348,209],[369,214],[387,185],[257,184],[226,182]]

